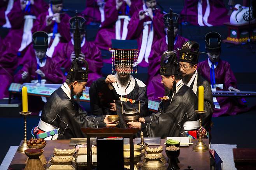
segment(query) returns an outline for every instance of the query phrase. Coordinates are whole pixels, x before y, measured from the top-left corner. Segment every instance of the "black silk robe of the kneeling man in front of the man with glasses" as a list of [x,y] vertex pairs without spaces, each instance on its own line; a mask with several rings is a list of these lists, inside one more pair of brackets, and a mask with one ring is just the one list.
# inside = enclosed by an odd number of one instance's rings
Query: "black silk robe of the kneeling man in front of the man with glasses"
[[174,95],[172,102],[163,111],[145,117],[141,124],[141,131],[145,137],[186,137],[183,124],[186,121],[196,121],[199,116],[195,114],[198,108],[198,99],[195,93],[183,85]]

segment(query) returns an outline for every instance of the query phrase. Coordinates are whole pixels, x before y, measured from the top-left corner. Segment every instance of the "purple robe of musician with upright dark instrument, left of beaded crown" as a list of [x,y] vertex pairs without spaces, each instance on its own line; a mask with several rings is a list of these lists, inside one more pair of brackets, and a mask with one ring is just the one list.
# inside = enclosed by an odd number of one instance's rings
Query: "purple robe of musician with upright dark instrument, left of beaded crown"
[[[74,46],[71,41],[68,43],[59,43],[54,50],[53,59],[60,64],[60,67],[65,68],[68,72],[71,66],[70,56],[74,51]],[[88,82],[86,86],[90,86],[91,83],[98,78],[102,77],[101,69],[103,67],[101,51],[96,47],[93,42],[85,42],[81,47],[81,52],[85,56],[85,60],[88,62]]]

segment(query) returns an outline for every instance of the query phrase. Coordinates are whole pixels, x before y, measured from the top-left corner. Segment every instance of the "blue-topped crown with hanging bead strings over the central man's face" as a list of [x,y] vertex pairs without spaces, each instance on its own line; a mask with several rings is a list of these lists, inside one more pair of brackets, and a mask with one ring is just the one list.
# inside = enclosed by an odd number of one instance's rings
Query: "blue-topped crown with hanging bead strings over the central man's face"
[[137,73],[138,44],[137,40],[112,40],[112,73],[116,73],[117,66],[124,66],[125,72]]

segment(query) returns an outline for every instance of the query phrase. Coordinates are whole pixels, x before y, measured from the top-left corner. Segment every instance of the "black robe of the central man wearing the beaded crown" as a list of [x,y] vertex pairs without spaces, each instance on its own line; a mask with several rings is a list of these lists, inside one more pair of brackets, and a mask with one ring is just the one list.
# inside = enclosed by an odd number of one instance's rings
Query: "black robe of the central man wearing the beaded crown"
[[[123,109],[126,108],[135,108],[139,109],[139,101],[140,101],[140,117],[148,116],[148,99],[147,99],[147,88],[140,87],[137,83],[138,80],[135,81],[135,86],[127,95],[123,95],[123,97],[134,100],[134,104],[128,102],[123,102]],[[129,86],[130,83],[128,83]],[[117,111],[121,112],[121,102],[119,97],[121,95],[117,94],[116,89],[113,88],[110,90],[108,84],[105,83],[105,78],[99,78],[95,82],[91,84],[89,89],[90,95],[90,104],[91,104],[91,112],[94,115],[109,115],[116,114],[116,112],[110,111],[109,103],[113,103],[113,100],[116,100],[116,108]],[[118,102],[117,102],[118,101]]]

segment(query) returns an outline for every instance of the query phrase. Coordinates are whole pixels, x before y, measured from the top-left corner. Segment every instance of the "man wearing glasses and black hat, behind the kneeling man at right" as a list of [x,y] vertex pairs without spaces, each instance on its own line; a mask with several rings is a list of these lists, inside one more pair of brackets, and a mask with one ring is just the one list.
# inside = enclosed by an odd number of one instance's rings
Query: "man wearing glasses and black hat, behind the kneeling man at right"
[[[190,50],[185,49],[186,46],[190,46]],[[184,43],[180,50],[179,68],[183,83],[190,87],[196,96],[198,96],[198,87],[202,85],[204,88],[204,109],[206,113],[202,115],[202,125],[209,132],[213,111],[212,90],[210,83],[204,80],[196,70],[199,57],[198,49],[199,44],[197,42],[187,41]]]

